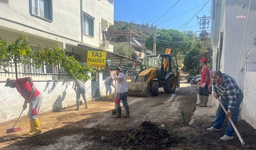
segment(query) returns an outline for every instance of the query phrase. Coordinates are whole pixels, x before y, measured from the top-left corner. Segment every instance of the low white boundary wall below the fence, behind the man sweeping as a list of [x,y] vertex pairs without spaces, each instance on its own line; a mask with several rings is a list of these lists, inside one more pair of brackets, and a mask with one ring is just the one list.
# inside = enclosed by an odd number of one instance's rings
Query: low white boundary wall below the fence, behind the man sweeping
[[[90,73],[89,73],[90,75]],[[22,111],[24,98],[16,88],[5,87],[5,82],[0,82],[0,123],[17,118]],[[76,92],[73,81],[34,81],[34,86],[43,96],[40,113],[66,108],[76,103]],[[86,98],[92,100],[91,80],[86,83]],[[80,97],[82,100],[82,96]],[[83,101],[83,100],[82,100]],[[28,113],[26,109],[22,116]]]

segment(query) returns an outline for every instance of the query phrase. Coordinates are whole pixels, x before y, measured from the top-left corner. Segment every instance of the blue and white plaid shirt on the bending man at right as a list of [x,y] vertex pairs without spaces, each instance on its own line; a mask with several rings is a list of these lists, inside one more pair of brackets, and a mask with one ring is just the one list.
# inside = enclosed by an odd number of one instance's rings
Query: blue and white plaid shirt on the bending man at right
[[236,84],[234,78],[228,76],[227,74],[223,75],[223,82],[221,85],[212,83],[213,91],[218,93],[221,98],[228,100],[228,112],[231,112],[236,104],[236,94],[242,93],[239,86]]

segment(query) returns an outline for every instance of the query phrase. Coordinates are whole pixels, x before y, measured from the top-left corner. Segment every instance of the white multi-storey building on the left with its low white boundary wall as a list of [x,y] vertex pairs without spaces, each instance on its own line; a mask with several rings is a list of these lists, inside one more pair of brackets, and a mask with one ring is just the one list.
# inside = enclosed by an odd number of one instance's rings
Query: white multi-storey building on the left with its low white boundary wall
[[[39,44],[50,47],[59,44],[80,61],[87,60],[88,50],[113,52],[113,46],[102,40],[102,31],[113,24],[114,0],[0,0],[0,36],[7,42],[13,42],[23,33],[35,50]],[[40,69],[29,66],[26,71],[43,94],[41,112],[75,104],[74,81],[56,80],[47,70],[47,66]],[[0,72],[0,122],[4,122],[18,116],[23,98],[16,89],[4,87],[6,78],[15,78],[15,73]],[[95,76],[95,80],[86,82],[88,100],[104,85],[102,74]],[[10,103],[14,104],[13,110],[6,110]]]

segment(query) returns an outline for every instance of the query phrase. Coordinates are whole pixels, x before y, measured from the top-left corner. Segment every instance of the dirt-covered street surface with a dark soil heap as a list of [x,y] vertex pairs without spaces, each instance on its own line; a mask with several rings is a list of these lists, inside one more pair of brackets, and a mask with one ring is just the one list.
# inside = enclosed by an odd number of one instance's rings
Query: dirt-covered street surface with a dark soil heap
[[[59,112],[39,115],[42,133],[33,137],[22,136],[29,131],[29,120],[20,118],[17,126],[22,130],[5,134],[15,120],[0,124],[0,149],[2,150],[241,150],[256,149],[256,133],[243,120],[237,128],[247,144],[243,148],[239,139],[223,142],[220,132],[207,132],[214,116],[205,116],[193,126],[181,122],[181,110],[188,122],[196,106],[196,86],[182,83],[174,94],[160,89],[157,97],[128,97],[130,118],[113,118],[113,100],[100,99],[88,103],[88,109],[74,110],[74,106]],[[22,107],[22,106],[21,106]],[[80,106],[84,107],[84,104]],[[122,107],[122,114],[125,109]],[[165,130],[161,124],[165,125]],[[225,126],[225,124],[224,124]]]

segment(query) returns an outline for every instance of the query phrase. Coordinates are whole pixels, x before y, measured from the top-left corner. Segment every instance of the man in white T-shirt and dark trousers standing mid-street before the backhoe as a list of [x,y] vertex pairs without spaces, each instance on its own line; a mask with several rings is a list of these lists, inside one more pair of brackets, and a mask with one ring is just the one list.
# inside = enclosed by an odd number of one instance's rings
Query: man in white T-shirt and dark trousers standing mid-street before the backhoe
[[117,110],[117,115],[114,116],[114,118],[121,118],[121,114],[122,114],[122,109],[120,106],[120,101],[122,100],[123,106],[126,110],[126,114],[124,115],[124,117],[129,118],[129,106],[127,103],[127,96],[128,96],[128,86],[127,86],[127,81],[126,81],[126,77],[122,71],[122,69],[120,67],[116,68],[116,81],[117,81],[117,85],[116,85],[116,98],[115,98],[115,106],[116,106],[116,110]]

